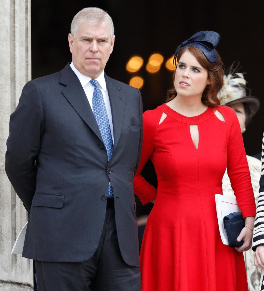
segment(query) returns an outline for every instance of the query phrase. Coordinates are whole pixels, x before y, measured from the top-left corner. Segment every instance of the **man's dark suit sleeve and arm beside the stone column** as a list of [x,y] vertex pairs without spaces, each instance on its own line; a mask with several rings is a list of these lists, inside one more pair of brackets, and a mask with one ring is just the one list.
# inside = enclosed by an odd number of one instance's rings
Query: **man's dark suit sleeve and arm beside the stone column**
[[41,94],[29,81],[22,90],[16,110],[10,116],[5,171],[27,211],[36,188],[37,160],[44,128]]

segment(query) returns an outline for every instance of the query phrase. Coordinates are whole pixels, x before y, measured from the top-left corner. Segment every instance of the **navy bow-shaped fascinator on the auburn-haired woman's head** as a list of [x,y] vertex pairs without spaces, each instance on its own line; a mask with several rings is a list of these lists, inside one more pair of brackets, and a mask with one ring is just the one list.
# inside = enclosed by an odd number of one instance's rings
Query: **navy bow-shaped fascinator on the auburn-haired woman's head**
[[206,59],[208,59],[210,63],[215,63],[218,58],[215,48],[218,45],[219,40],[220,35],[217,32],[210,30],[196,32],[193,36],[186,39],[177,47],[174,54],[173,63],[175,58],[175,63],[177,63],[177,55],[184,46],[195,46],[203,52]]

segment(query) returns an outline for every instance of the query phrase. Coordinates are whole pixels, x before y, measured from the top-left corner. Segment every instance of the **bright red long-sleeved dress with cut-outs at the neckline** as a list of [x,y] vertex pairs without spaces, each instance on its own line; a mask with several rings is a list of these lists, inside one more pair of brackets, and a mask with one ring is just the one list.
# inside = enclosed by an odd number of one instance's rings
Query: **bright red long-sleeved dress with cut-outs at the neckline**
[[[143,151],[134,191],[143,204],[156,198],[140,252],[142,291],[248,290],[243,253],[220,238],[215,194],[227,167],[243,217],[256,205],[239,122],[229,107],[185,117],[166,104],[143,115]],[[162,113],[167,117],[159,125]],[[190,124],[199,129],[198,149]],[[158,189],[140,172],[154,164]]]

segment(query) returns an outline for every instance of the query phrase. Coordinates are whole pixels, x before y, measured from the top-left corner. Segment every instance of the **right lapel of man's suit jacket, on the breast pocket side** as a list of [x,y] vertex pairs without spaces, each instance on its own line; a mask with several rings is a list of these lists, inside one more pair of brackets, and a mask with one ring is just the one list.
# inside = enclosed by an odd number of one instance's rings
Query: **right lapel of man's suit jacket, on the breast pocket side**
[[122,87],[116,87],[116,83],[113,83],[112,79],[105,76],[107,91],[109,95],[111,112],[112,112],[112,121],[114,129],[114,150],[117,147],[118,140],[120,138],[121,129],[123,125],[123,116],[125,109],[125,99],[126,97],[120,92]]

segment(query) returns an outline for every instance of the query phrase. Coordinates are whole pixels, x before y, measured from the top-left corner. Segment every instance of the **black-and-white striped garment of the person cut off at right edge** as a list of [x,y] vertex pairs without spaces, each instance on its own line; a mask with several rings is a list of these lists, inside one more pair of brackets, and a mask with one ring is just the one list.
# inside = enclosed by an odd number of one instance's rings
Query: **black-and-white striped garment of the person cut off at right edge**
[[[262,152],[261,152],[261,176],[259,180],[259,198],[256,211],[256,221],[254,225],[252,250],[256,251],[257,246],[264,245],[264,133],[262,139]],[[264,269],[259,283],[259,290],[264,290]]]

